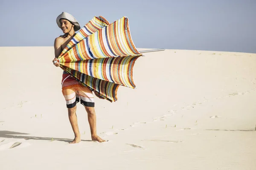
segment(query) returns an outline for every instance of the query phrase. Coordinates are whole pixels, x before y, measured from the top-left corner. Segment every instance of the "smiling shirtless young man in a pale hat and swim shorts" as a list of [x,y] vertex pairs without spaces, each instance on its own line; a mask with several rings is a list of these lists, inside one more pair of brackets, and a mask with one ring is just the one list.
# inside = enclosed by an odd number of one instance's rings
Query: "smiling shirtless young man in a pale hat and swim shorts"
[[[70,14],[62,12],[56,19],[58,27],[61,28],[64,35],[57,37],[54,42],[55,49],[55,59],[53,59],[53,64],[58,67],[58,56],[61,54],[61,51],[67,46],[67,44],[72,40],[76,35],[75,31],[80,29],[79,23],[77,20]],[[54,62],[56,61],[56,62]],[[84,105],[85,110],[88,115],[88,122],[90,125],[91,137],[93,141],[105,142],[101,139],[96,133],[96,113],[94,110],[94,99],[92,91],[78,82],[74,77],[67,74],[65,71],[62,75],[62,94],[66,99],[68,117],[70,124],[72,126],[73,132],[75,133],[75,139],[70,142],[79,143],[80,142],[80,133],[79,127],[77,124],[76,116],[76,103],[81,101],[81,104]]]

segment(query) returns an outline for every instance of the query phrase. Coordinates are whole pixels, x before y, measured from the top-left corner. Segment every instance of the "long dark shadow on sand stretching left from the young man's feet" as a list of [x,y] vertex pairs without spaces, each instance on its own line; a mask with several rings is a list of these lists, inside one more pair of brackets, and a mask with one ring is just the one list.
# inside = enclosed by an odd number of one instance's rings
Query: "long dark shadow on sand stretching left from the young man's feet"
[[[46,140],[46,141],[61,141],[61,142],[71,142],[73,139],[62,139],[62,138],[48,138],[48,137],[38,137],[38,136],[21,136],[21,135],[29,135],[29,133],[20,133],[20,132],[12,132],[7,130],[0,130],[0,137],[2,138],[14,138],[14,139],[25,139],[25,140]],[[81,140],[84,142],[96,142],[92,140]]]

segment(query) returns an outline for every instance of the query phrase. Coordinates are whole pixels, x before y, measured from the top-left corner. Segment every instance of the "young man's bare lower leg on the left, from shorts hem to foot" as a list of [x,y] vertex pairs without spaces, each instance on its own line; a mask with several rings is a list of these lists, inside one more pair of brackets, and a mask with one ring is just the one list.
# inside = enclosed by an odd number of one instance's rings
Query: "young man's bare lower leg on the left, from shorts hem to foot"
[[77,124],[76,106],[73,108],[67,108],[67,110],[68,110],[68,118],[70,120],[70,124],[75,134],[75,139],[72,142],[70,142],[70,144],[78,143],[81,141],[81,139],[80,139],[80,133],[79,133],[79,128]]

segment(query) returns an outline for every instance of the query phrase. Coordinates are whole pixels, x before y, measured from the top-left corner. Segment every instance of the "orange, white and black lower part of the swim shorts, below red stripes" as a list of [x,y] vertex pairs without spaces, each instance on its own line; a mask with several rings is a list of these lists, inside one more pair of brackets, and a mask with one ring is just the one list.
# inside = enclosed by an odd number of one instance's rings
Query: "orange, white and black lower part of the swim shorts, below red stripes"
[[66,99],[67,108],[75,107],[79,100],[84,106],[94,107],[93,92],[82,84],[63,87],[62,94]]

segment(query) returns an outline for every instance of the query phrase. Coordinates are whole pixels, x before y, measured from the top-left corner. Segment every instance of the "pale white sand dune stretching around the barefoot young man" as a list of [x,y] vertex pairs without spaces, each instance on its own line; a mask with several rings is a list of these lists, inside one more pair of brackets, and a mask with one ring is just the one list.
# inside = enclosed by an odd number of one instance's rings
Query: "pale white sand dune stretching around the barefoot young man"
[[[145,50],[145,49],[139,49]],[[136,89],[95,98],[82,141],[61,94],[53,47],[0,47],[0,170],[255,170],[256,54],[165,50],[134,65]],[[10,148],[12,147],[12,148]]]

